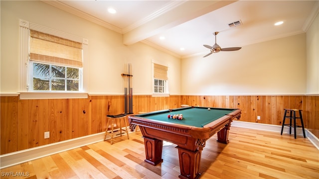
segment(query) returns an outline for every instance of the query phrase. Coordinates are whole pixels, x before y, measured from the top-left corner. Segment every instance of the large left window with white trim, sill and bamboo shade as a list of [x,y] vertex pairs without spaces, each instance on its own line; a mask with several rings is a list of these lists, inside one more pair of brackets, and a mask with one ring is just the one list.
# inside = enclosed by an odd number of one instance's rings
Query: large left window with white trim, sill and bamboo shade
[[87,98],[86,39],[23,20],[20,38],[20,99]]

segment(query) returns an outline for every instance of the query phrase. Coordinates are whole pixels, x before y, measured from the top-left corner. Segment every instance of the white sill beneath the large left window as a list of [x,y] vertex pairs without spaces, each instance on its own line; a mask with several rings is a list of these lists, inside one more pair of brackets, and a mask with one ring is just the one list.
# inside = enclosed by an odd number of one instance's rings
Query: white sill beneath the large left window
[[19,99],[88,98],[87,92],[19,92]]

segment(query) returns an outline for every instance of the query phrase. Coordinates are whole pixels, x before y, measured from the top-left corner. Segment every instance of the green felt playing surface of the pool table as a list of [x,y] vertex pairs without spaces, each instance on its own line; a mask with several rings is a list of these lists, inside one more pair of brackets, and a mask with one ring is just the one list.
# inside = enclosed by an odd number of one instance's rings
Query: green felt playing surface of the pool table
[[[208,110],[208,107],[182,107],[168,110],[161,110],[155,112],[149,112],[144,114],[139,114],[136,116],[159,120],[163,122],[171,122],[176,124],[189,125],[194,127],[203,127],[204,125],[219,119],[220,117],[229,114],[236,109],[228,109],[228,108],[212,108]],[[171,119],[168,118],[168,114],[182,114],[183,119]]]

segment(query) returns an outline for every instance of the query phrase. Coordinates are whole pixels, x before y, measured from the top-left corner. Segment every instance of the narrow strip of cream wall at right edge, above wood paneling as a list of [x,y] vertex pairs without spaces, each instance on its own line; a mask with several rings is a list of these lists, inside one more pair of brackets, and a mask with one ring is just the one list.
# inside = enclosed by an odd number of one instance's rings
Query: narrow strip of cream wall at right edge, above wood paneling
[[319,94],[319,14],[307,31],[307,94]]

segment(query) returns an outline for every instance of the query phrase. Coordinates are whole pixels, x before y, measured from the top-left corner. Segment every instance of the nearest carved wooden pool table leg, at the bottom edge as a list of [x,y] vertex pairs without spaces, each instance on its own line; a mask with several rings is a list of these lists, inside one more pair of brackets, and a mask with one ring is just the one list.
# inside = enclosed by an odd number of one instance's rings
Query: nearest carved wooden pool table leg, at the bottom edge
[[178,149],[180,179],[198,179],[201,175],[199,173],[199,165],[201,158],[201,150],[190,151],[180,147]]

